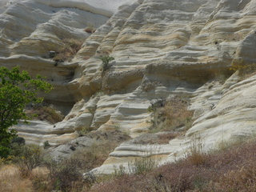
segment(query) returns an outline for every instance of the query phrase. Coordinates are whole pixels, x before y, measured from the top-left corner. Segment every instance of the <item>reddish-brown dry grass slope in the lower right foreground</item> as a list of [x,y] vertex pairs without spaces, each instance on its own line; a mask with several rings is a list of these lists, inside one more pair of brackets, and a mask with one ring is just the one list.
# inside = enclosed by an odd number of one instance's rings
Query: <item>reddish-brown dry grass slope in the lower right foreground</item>
[[147,174],[122,175],[90,191],[256,191],[256,142],[192,154]]

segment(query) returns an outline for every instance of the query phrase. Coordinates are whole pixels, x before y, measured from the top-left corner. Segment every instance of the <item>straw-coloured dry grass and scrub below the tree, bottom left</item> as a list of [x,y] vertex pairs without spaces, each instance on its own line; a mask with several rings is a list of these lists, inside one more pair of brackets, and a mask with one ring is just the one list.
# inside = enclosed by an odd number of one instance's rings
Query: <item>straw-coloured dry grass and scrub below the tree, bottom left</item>
[[[3,164],[4,161],[0,161],[0,191],[51,192],[56,190],[72,192],[90,190],[96,179],[83,179],[82,174],[101,166],[110,152],[121,142],[126,141],[128,136],[119,130],[106,133],[94,132],[88,136],[98,138],[98,140],[90,147],[75,150],[70,158],[57,162],[45,159],[40,166],[29,171],[26,177],[19,169],[20,164],[8,166]],[[20,148],[20,150],[22,149]],[[22,162],[25,160],[25,157],[21,158]]]

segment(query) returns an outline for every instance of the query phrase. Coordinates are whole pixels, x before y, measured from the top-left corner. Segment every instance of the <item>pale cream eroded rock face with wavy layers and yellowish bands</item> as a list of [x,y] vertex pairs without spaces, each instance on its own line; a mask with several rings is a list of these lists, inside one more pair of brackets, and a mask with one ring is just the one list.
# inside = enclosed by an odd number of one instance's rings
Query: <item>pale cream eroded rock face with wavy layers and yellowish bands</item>
[[[198,135],[210,149],[254,130],[255,77],[240,81],[230,66],[256,62],[255,0],[144,0],[115,11],[93,5],[92,13],[91,1],[73,2],[73,8],[42,0],[0,4],[1,66],[46,75],[55,88],[47,100],[73,104],[55,125],[18,125],[27,141],[56,144],[78,137],[83,127],[118,128],[136,138],[150,127],[150,102],[172,94],[194,110],[186,136],[157,147],[123,143],[98,168],[101,173],[145,153],[161,163],[182,158]],[[94,33],[84,30],[88,26]],[[64,46],[62,38],[83,42],[73,60],[44,57]],[[103,74],[100,57],[109,54],[115,60]]]

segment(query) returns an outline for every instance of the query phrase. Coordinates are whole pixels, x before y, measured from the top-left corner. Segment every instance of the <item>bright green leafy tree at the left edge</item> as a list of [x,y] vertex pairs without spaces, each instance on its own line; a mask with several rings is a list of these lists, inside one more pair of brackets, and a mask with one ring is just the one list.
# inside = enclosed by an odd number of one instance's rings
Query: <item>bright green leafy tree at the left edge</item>
[[30,103],[42,102],[42,95],[53,87],[40,75],[31,78],[27,71],[20,72],[16,66],[11,70],[0,67],[0,157],[10,152],[10,142],[17,137],[16,130],[8,130],[18,124],[20,119],[27,123],[29,117],[24,108]]

